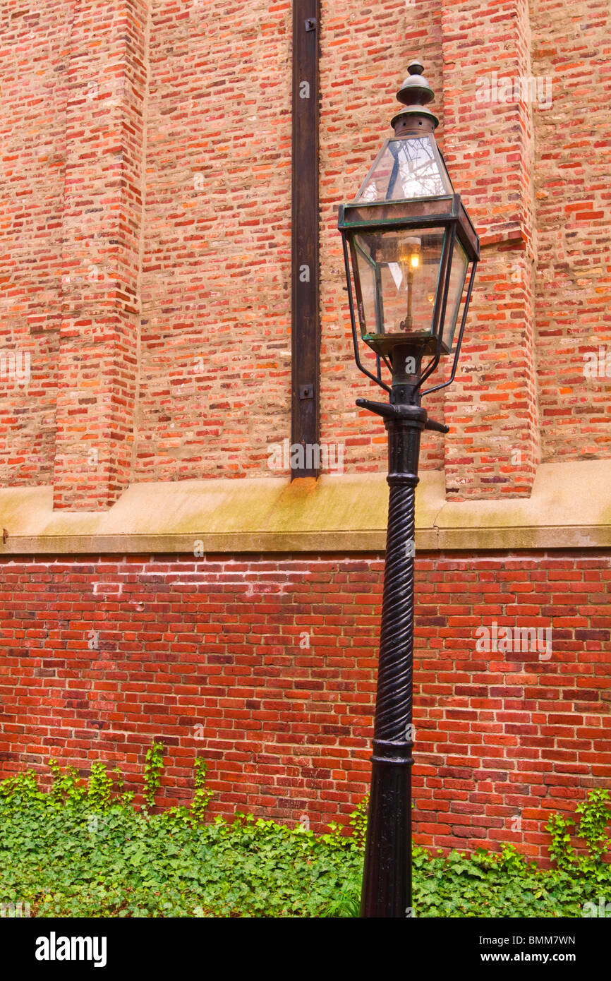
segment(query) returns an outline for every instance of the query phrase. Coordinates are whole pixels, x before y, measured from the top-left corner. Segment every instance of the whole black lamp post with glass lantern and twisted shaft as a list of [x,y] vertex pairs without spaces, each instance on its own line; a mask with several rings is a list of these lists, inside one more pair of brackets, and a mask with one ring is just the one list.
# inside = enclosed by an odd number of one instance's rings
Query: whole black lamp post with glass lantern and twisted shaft
[[[433,90],[422,72],[417,62],[409,66],[394,135],[354,201],[340,207],[338,223],[356,363],[389,395],[388,402],[357,399],[384,420],[390,486],[362,916],[412,915],[414,499],[420,434],[448,432],[429,419],[421,399],[454,379],[480,258],[480,239],[434,141]],[[362,338],[376,353],[375,374],[361,362],[355,306]],[[449,379],[423,391],[450,352]]]

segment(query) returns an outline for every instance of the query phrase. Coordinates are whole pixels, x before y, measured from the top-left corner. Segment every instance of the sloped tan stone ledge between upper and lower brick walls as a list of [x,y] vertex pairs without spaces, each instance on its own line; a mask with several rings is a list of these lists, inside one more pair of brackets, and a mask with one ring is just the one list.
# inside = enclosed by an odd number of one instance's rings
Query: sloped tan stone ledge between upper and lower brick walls
[[[108,511],[54,511],[51,487],[0,490],[5,554],[382,551],[383,473],[131,485]],[[611,460],[541,464],[530,497],[446,501],[424,471],[416,548],[611,546]]]

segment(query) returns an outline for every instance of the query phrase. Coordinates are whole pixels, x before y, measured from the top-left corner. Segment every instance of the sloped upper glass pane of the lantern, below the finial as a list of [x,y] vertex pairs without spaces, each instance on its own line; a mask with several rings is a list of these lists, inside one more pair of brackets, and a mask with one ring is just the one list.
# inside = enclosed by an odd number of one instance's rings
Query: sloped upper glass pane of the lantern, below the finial
[[452,194],[452,182],[431,135],[387,139],[355,202],[405,201]]

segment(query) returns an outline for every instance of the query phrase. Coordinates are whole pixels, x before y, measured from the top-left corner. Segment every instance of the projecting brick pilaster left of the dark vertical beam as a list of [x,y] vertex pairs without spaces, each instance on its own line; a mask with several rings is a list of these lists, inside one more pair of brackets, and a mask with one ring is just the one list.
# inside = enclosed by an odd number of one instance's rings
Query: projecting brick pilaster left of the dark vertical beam
[[55,506],[108,507],[131,475],[148,10],[76,5],[62,235]]

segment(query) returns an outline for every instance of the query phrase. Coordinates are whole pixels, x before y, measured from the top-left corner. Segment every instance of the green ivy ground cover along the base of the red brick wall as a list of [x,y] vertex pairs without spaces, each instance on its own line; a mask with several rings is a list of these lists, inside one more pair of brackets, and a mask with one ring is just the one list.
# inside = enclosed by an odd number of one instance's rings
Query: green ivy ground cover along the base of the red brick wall
[[[163,747],[146,754],[143,808],[103,763],[87,780],[51,761],[53,786],[33,773],[0,784],[0,902],[26,902],[34,916],[358,916],[367,800],[348,824],[315,835],[301,826],[237,815],[205,822],[207,765],[194,766],[190,808],[151,809]],[[515,848],[501,852],[413,853],[419,917],[582,916],[586,902],[611,897],[608,793],[592,791],[573,822],[553,815],[550,855],[540,869]],[[565,836],[569,840],[565,840]]]

